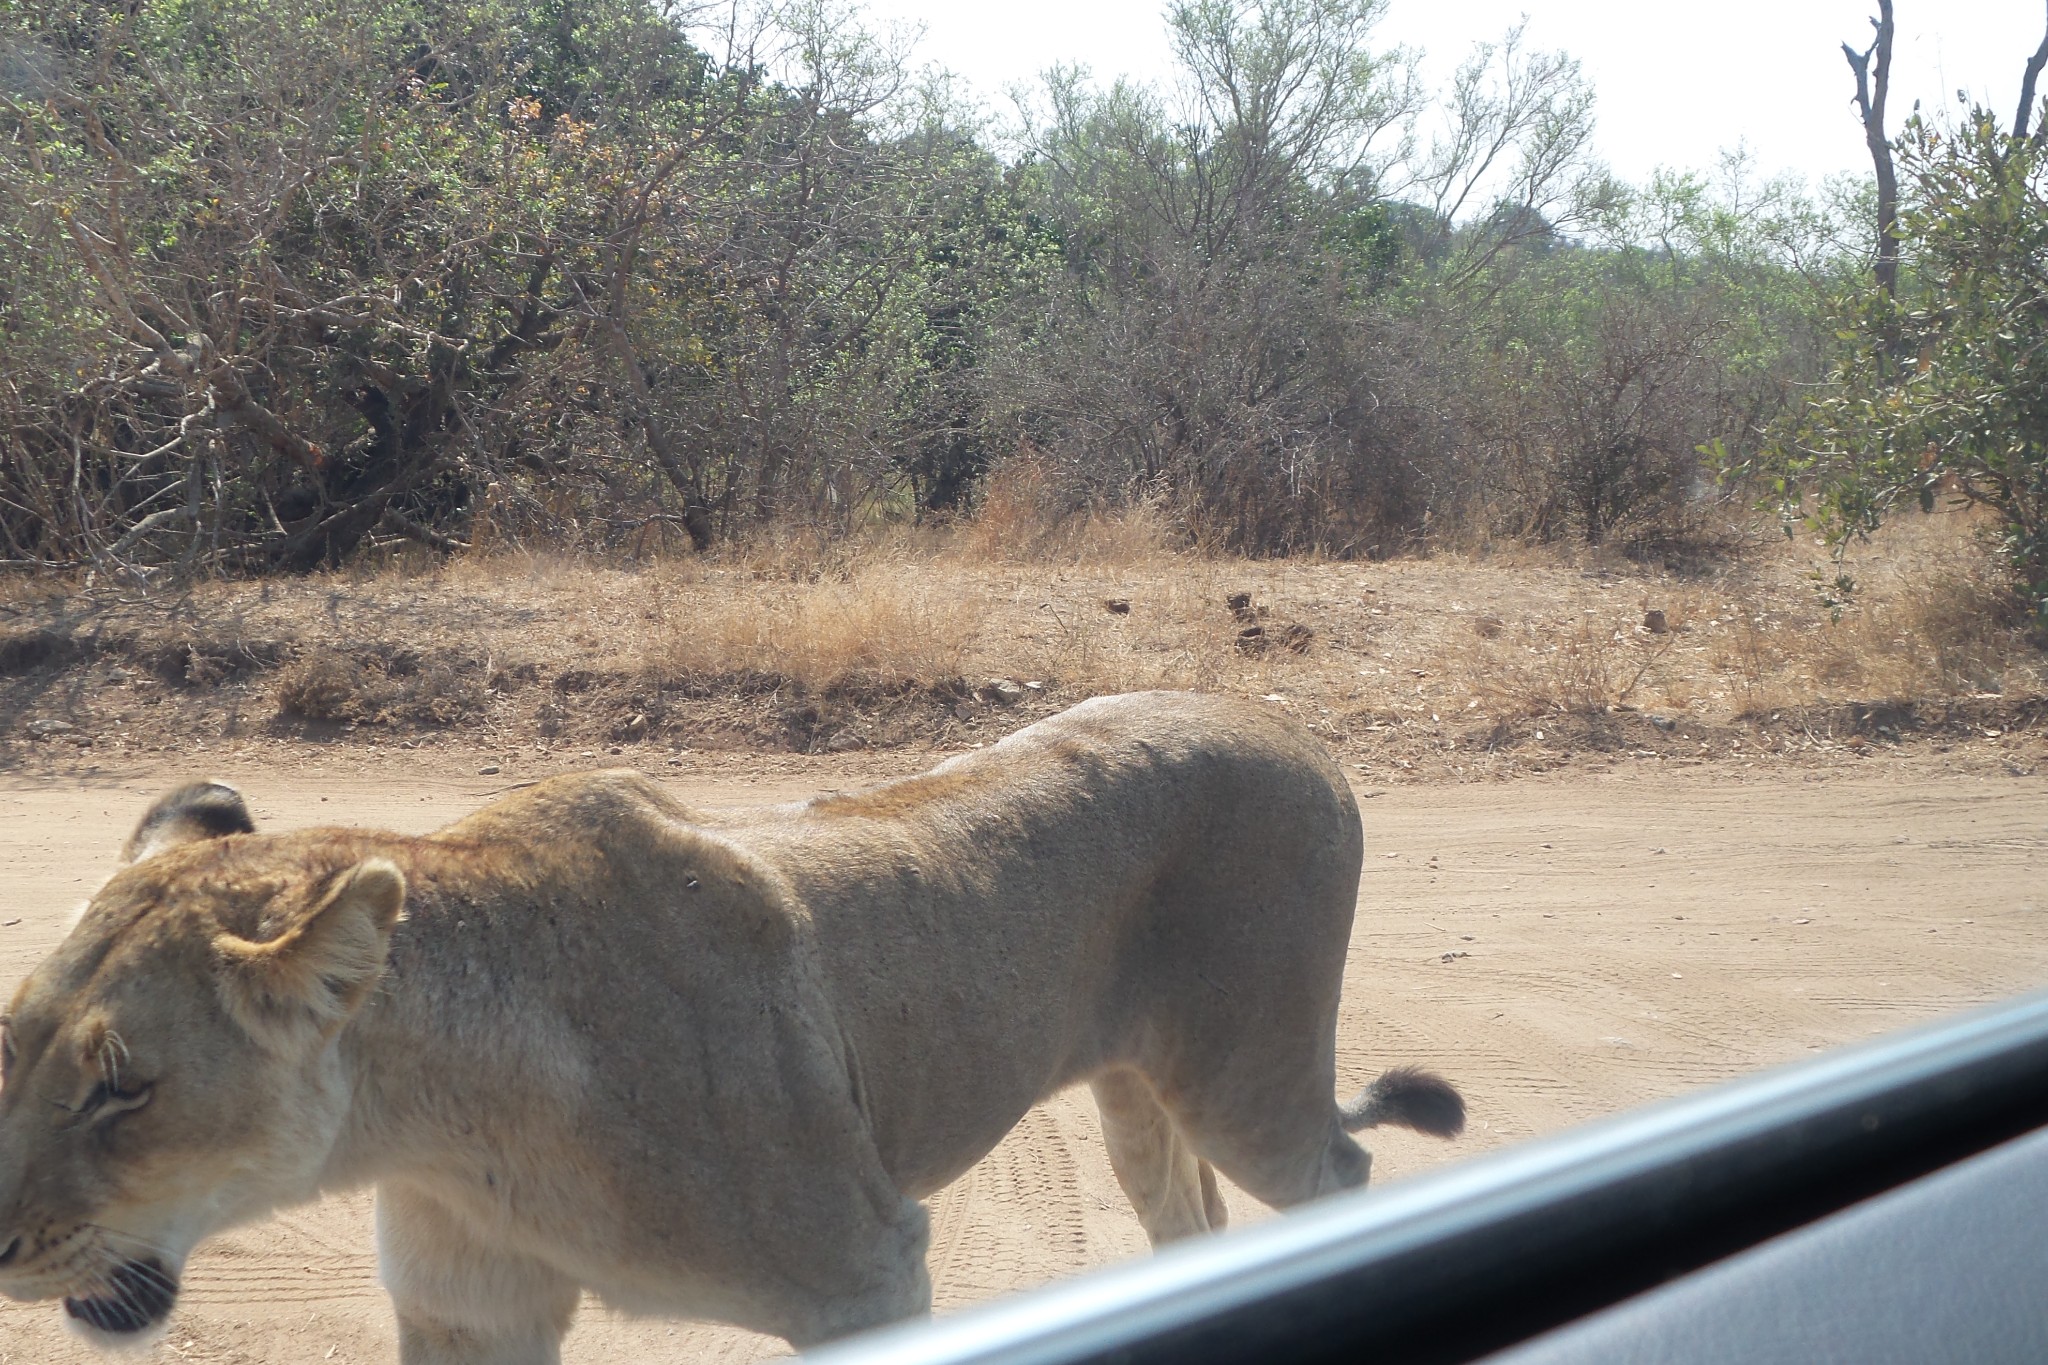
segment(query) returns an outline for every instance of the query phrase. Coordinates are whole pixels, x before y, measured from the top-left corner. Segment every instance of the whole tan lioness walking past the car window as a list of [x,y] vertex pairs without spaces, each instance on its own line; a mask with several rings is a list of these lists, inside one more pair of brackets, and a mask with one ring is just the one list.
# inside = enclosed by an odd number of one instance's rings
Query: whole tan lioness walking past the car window
[[930,1308],[926,1212],[1087,1081],[1155,1242],[1362,1185],[1337,1107],[1358,806],[1317,743],[1104,698],[920,778],[707,819],[633,772],[420,839],[160,800],[16,990],[0,1291],[102,1338],[190,1248],[377,1185],[401,1359],[555,1361],[578,1291],[805,1347]]

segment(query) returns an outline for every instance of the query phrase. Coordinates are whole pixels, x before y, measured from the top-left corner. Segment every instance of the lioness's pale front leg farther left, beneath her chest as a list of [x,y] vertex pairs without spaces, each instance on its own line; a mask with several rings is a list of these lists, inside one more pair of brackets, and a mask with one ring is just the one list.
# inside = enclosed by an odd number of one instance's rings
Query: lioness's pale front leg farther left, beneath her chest
[[559,1365],[575,1283],[483,1242],[432,1197],[377,1191],[377,1269],[403,1365]]

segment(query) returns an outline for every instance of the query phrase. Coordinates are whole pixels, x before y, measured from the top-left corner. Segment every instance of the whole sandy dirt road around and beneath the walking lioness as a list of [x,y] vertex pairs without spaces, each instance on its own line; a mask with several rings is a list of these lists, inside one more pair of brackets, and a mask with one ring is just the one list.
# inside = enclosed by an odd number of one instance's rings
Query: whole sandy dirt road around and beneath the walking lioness
[[[690,802],[797,798],[874,759],[670,772]],[[901,763],[897,765],[897,769]],[[0,990],[10,993],[178,772],[0,778]],[[268,827],[426,831],[492,778],[422,761],[313,778],[221,772]],[[502,782],[502,780],[496,780]],[[2048,784],[2036,778],[1696,769],[1372,794],[1339,1025],[1343,1087],[1425,1062],[1466,1093],[1456,1144],[1374,1134],[1374,1179],[1806,1056],[2048,982]],[[1239,1191],[1233,1218],[1264,1216]],[[940,1310],[1135,1254],[1143,1234],[1085,1097],[1032,1111],[934,1199]],[[209,1242],[162,1361],[393,1361],[369,1195]],[[0,1365],[92,1359],[51,1304],[0,1304]],[[748,1361],[745,1332],[588,1304],[569,1361]]]

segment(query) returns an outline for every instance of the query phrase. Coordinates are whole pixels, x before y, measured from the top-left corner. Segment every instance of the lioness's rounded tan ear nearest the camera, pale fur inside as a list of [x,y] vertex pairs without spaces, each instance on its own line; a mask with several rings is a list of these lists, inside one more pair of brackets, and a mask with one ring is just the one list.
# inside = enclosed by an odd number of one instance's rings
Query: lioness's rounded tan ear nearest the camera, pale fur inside
[[221,933],[213,948],[227,1013],[258,1042],[332,1036],[383,976],[403,907],[406,874],[371,857],[336,876],[274,939]]

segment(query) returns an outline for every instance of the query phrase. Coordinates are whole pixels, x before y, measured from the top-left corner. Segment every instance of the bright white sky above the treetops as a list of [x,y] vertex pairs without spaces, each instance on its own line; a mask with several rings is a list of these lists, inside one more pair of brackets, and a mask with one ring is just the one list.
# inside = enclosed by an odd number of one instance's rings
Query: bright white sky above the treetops
[[[1937,108],[1966,88],[2005,125],[2040,45],[2042,0],[1896,0],[1888,127],[1913,100]],[[991,108],[1004,90],[1073,61],[1104,84],[1171,70],[1161,0],[866,0],[881,25],[924,25],[915,59],[965,76]],[[1528,45],[1579,57],[1599,94],[1599,156],[1624,178],[1657,166],[1708,170],[1745,143],[1763,172],[1821,180],[1868,172],[1841,43],[1870,43],[1876,0],[1393,0],[1378,43],[1427,53],[1432,88],[1475,41],[1528,14]],[[2048,78],[2044,78],[2048,84]]]

